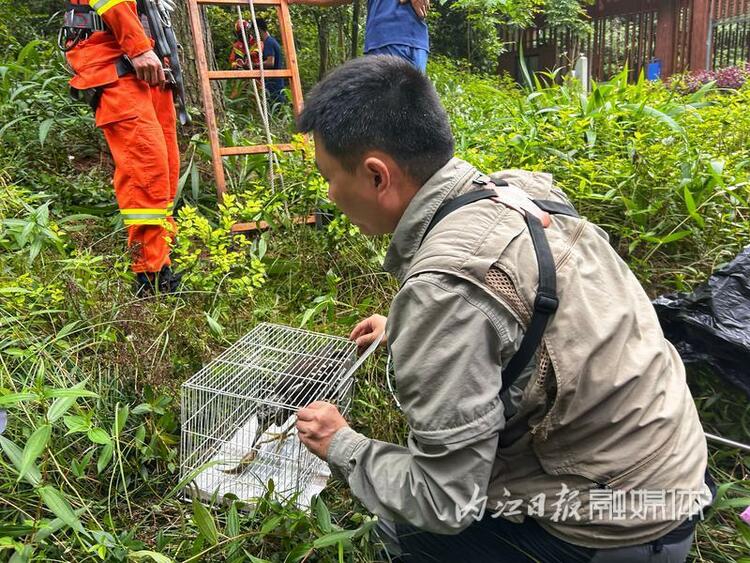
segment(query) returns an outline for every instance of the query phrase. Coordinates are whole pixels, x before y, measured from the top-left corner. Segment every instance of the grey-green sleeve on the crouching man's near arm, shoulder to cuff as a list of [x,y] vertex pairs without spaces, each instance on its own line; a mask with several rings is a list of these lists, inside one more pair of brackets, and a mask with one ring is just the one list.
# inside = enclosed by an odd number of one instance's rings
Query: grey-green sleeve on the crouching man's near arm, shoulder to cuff
[[327,456],[379,516],[457,533],[473,521],[475,513],[465,509],[486,494],[504,425],[500,356],[518,328],[480,294],[452,276],[428,274],[408,282],[391,308],[389,346],[408,445],[347,426],[333,436]]

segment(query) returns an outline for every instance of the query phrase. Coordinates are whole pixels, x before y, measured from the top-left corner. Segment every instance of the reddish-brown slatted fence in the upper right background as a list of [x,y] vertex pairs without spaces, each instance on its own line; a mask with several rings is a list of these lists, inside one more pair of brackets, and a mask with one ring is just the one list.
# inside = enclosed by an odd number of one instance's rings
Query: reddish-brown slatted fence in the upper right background
[[750,60],[750,0],[598,0],[589,15],[589,37],[549,29],[542,19],[535,29],[501,29],[509,52],[500,57],[500,70],[518,74],[519,46],[532,70],[568,66],[583,52],[597,80],[625,65],[635,79],[655,59],[662,77]]

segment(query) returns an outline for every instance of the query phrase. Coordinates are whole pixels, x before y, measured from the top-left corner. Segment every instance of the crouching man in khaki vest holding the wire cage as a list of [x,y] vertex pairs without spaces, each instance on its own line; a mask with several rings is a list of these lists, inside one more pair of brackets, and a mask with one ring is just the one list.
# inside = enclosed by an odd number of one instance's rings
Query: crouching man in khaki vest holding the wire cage
[[335,406],[300,438],[380,517],[403,561],[684,561],[712,499],[683,364],[606,234],[551,176],[487,176],[453,157],[428,79],[389,56],[350,61],[309,95],[330,198],[393,233],[386,332],[407,446]]

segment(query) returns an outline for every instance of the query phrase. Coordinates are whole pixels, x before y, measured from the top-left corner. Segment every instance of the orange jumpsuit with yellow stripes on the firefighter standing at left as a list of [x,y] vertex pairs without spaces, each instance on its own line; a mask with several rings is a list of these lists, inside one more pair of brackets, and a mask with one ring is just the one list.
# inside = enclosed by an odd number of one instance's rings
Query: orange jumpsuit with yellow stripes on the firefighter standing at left
[[153,41],[138,17],[135,0],[74,0],[88,4],[110,31],[98,31],[68,51],[79,90],[103,87],[96,125],[115,161],[117,204],[128,227],[134,272],[158,272],[170,264],[175,235],[172,206],[180,154],[172,91],[151,87],[135,74],[117,76],[115,63],[149,51]]

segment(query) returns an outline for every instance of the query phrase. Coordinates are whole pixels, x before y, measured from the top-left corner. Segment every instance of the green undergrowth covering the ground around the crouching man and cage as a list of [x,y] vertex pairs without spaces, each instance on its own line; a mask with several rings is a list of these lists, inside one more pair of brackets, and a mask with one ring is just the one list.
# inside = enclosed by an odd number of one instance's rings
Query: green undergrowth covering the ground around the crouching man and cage
[[[183,501],[178,394],[258,322],[347,334],[386,313],[387,239],[365,239],[332,209],[299,137],[280,155],[283,184],[270,189],[264,156],[234,159],[232,196],[217,205],[196,129],[181,139],[184,291],[134,296],[110,158],[50,49],[32,43],[0,64],[0,559],[378,560],[373,520],[340,483],[309,513],[271,490],[253,511]],[[690,289],[750,235],[750,89],[682,96],[625,75],[584,94],[553,76],[521,89],[445,61],[430,68],[460,156],[488,172],[551,172],[649,291]],[[241,115],[228,123],[238,144],[257,133]],[[315,209],[332,214],[324,228],[293,222]],[[256,220],[271,228],[231,233]],[[383,363],[359,375],[350,419],[403,443]],[[691,371],[690,383],[706,428],[747,441],[746,399],[710,373]],[[737,516],[750,504],[749,462],[711,448],[721,496],[693,560],[741,561],[750,549]]]

